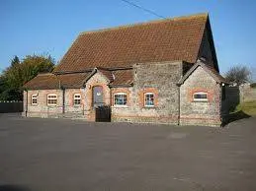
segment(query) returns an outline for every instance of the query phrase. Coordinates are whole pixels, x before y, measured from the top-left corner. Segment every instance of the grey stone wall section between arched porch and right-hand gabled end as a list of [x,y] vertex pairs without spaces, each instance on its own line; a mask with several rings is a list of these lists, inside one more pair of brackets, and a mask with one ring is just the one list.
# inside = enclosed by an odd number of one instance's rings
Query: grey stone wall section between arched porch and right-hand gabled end
[[[181,62],[136,64],[133,66],[133,87],[127,107],[112,107],[113,121],[178,123],[178,87],[182,76]],[[113,89],[118,92],[119,89]],[[144,106],[144,94],[154,94],[154,106]]]

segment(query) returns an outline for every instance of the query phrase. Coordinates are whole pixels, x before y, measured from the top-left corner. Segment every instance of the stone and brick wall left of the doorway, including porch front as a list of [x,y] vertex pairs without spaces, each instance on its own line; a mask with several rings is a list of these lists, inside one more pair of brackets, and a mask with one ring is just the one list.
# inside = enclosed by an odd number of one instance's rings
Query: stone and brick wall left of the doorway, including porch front
[[[31,117],[68,117],[82,118],[89,121],[95,120],[95,109],[93,107],[92,96],[93,87],[103,87],[104,102],[111,104],[111,93],[108,87],[108,79],[103,75],[96,73],[86,83],[83,89],[65,89],[65,90],[37,90],[24,92],[24,108],[26,115],[27,94],[28,94],[28,110],[27,116]],[[46,102],[48,94],[57,96],[57,105],[49,106]],[[81,104],[74,105],[74,95],[81,95]],[[38,95],[38,103],[32,104],[32,95]],[[64,95],[64,107],[63,107]]]

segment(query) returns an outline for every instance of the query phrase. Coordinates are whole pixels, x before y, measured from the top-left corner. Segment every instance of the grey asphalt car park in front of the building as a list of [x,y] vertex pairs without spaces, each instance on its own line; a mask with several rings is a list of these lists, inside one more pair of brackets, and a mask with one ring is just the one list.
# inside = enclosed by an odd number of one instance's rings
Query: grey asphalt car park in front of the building
[[213,128],[0,114],[2,190],[256,190],[256,118]]

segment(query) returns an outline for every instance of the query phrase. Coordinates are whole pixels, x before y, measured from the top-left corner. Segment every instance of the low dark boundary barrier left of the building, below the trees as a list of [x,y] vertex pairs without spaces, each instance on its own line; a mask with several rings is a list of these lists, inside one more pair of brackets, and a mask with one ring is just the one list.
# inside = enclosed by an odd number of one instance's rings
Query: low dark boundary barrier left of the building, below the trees
[[0,101],[0,113],[22,112],[22,101]]

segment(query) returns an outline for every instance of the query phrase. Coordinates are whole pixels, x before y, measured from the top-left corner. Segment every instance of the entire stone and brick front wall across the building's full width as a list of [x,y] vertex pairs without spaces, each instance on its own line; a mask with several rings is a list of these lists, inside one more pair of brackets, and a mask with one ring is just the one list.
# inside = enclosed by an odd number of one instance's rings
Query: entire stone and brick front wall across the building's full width
[[[101,73],[96,73],[87,82],[84,89],[28,91],[28,116],[84,118],[95,121],[93,107],[93,87],[103,88],[106,105],[112,107],[112,121],[152,122],[178,124],[181,112],[181,124],[219,125],[220,86],[213,78],[199,67],[179,88],[176,84],[181,79],[184,63],[162,62],[133,65],[133,86],[128,88],[109,88],[109,80]],[[180,91],[180,102],[179,102]],[[195,102],[193,94],[207,92],[209,101]],[[114,104],[114,95],[128,95],[126,106]],[[154,95],[154,105],[144,105],[144,95]],[[26,102],[27,92],[24,95]],[[38,95],[38,104],[33,105],[32,95]],[[56,94],[56,106],[48,106],[46,97]],[[81,104],[74,105],[74,95],[81,95]],[[64,95],[64,107],[63,107]],[[25,106],[26,108],[26,106]],[[180,108],[180,110],[179,110]],[[64,113],[63,113],[64,112]]]

